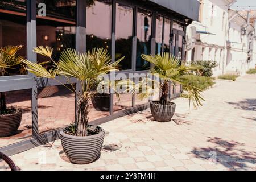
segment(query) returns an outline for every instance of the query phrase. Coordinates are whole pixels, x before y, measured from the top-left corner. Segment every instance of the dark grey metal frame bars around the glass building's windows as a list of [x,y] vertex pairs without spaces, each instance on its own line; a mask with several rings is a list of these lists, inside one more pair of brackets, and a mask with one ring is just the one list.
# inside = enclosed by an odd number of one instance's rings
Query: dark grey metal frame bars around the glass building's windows
[[[177,16],[171,16],[165,12],[157,12],[154,7],[148,6],[146,3],[141,3],[137,1],[127,1],[127,0],[112,0],[112,36],[111,36],[111,55],[112,62],[114,62],[115,55],[115,17],[116,17],[116,4],[122,3],[125,5],[132,6],[134,9],[133,13],[133,48],[132,48],[132,69],[119,71],[117,73],[148,73],[148,71],[136,71],[136,52],[137,52],[137,13],[138,8],[151,11],[152,13],[152,28],[151,28],[151,54],[155,54],[155,34],[156,34],[156,14],[163,16],[164,18],[171,19],[171,30],[170,30],[170,52],[172,45],[172,21],[173,19],[181,21]],[[77,16],[76,16],[76,50],[77,52],[86,51],[86,1],[85,0],[76,0],[77,7]],[[163,20],[164,26],[164,20]],[[184,26],[185,27],[185,26]],[[36,1],[27,0],[27,59],[36,60],[36,53],[32,52],[32,48],[36,47]],[[163,27],[164,31],[164,27]],[[163,32],[164,35],[164,32]],[[164,40],[162,38],[162,42]],[[151,65],[152,67],[152,65]],[[61,82],[65,82],[65,77],[60,76],[57,79]],[[135,79],[135,78],[134,78]],[[72,83],[76,84],[77,80],[72,78]],[[11,144],[10,146],[5,146],[0,148],[0,151],[5,152],[7,155],[13,155],[24,150],[39,146],[40,144],[45,144],[55,140],[58,137],[60,129],[50,131],[46,134],[39,134],[38,130],[38,88],[45,86],[60,85],[59,82],[46,78],[38,78],[35,75],[28,73],[28,75],[20,76],[5,76],[0,77],[0,92],[10,92],[14,90],[31,90],[31,113],[32,113],[32,136],[30,139],[23,140],[22,142]],[[76,89],[80,90],[79,84],[76,84]],[[94,125],[99,125],[110,121],[112,119],[121,117],[127,114],[127,111],[118,111],[117,113],[113,112],[113,97],[110,96],[110,115],[104,118],[97,119],[92,122]],[[74,101],[75,102],[75,101]],[[141,107],[135,107],[135,97],[133,96],[132,100],[133,108],[130,109],[130,113],[138,111],[140,109],[145,109],[148,104],[144,104]]]

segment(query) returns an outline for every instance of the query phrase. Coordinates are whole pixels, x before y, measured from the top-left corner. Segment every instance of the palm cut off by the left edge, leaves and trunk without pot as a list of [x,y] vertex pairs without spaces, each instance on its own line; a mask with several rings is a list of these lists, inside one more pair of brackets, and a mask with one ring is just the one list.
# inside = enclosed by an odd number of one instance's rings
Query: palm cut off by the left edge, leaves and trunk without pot
[[[14,69],[15,65],[22,64],[23,57],[18,54],[18,51],[22,49],[23,46],[6,46],[0,48],[0,76],[8,76],[9,71]],[[23,73],[23,69],[19,70]],[[6,98],[5,93],[0,93],[0,114],[13,113],[16,110],[14,108],[6,108]]]

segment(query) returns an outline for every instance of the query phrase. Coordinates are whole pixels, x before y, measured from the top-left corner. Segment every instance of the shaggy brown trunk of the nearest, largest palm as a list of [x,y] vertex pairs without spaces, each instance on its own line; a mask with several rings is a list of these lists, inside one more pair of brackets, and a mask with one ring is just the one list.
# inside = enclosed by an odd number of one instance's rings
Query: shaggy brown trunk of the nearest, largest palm
[[84,98],[80,98],[78,101],[78,108],[77,108],[77,136],[86,136],[87,133],[87,126],[88,126],[88,113],[89,113],[89,105],[88,101]]

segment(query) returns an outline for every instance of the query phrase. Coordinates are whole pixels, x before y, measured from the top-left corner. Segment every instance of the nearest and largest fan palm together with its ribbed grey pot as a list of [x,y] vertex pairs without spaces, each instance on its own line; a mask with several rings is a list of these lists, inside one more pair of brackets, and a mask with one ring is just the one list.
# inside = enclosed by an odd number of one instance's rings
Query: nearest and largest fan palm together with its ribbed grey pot
[[[61,52],[59,61],[52,59],[52,48],[37,47],[36,53],[47,56],[53,62],[53,68],[47,71],[42,65],[23,60],[27,64],[27,70],[38,77],[52,78],[65,76],[71,85],[67,89],[77,96],[77,113],[75,122],[60,131],[61,144],[64,152],[72,163],[91,163],[100,155],[104,142],[104,130],[98,126],[88,125],[89,100],[96,90],[94,83],[102,74],[117,70],[118,63],[123,59],[111,63],[111,57],[104,48],[94,48],[86,53],[77,53],[75,49],[65,49]],[[71,77],[77,78],[80,91],[71,84]],[[65,86],[67,83],[62,83]]]

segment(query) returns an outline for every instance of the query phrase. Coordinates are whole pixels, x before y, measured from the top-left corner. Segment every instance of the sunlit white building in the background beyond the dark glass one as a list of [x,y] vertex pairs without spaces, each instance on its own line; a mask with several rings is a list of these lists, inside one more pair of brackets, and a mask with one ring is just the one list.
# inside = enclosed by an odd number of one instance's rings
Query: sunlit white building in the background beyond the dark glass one
[[200,1],[200,19],[187,28],[187,61],[212,60],[214,75],[244,75],[254,67],[254,26],[230,10],[233,0]]

